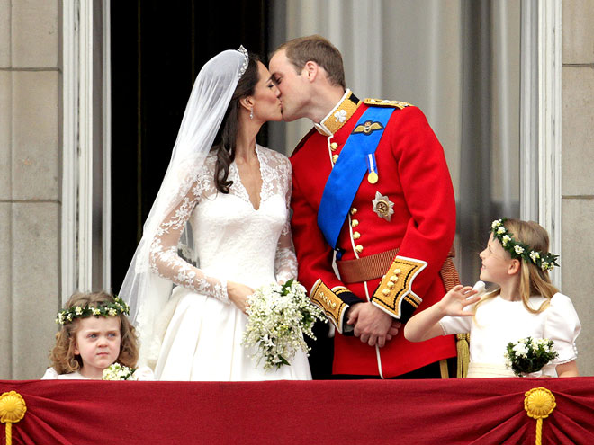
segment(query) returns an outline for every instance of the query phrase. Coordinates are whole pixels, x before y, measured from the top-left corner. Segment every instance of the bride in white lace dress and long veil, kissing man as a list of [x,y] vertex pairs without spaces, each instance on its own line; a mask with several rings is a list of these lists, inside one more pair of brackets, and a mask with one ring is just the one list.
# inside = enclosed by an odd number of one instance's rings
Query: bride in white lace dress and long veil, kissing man
[[291,165],[256,143],[281,120],[270,73],[241,47],[202,67],[121,288],[160,380],[310,379],[304,353],[265,371],[240,343],[247,298],[297,275]]

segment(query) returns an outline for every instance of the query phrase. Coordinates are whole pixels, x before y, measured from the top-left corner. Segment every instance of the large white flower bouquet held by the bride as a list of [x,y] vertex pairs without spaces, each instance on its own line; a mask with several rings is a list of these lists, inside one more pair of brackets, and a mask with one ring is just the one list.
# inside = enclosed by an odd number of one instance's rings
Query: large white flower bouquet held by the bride
[[305,288],[295,280],[256,289],[249,298],[247,315],[241,344],[257,346],[252,357],[257,363],[264,360],[264,369],[290,365],[299,349],[309,352],[303,335],[315,340],[311,331],[314,322],[326,321],[320,307],[311,303]]

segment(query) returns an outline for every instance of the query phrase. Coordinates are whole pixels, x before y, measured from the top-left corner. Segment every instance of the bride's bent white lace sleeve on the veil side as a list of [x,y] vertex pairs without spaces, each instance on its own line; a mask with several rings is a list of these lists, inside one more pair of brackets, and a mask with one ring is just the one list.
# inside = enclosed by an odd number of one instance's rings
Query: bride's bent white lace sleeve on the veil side
[[160,277],[171,280],[186,289],[229,303],[226,280],[206,276],[200,269],[187,263],[177,254],[177,243],[200,196],[201,187],[200,182],[197,181],[180,204],[161,222],[157,235],[150,245],[150,269]]

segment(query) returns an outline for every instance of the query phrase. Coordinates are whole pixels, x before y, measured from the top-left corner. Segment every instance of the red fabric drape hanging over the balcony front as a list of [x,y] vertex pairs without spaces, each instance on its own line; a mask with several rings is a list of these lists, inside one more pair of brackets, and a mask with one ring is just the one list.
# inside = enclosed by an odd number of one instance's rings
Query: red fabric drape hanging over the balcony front
[[[0,381],[14,444],[535,443],[527,390],[556,408],[544,444],[594,444],[594,378],[267,383]],[[4,444],[4,425],[0,443]]]

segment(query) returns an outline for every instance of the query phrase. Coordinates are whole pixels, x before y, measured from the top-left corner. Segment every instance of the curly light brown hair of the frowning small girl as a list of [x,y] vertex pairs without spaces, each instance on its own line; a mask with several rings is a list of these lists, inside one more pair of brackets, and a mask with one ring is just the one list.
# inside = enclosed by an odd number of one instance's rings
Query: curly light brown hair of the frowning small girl
[[[93,293],[76,293],[68,299],[65,308],[71,307],[98,307],[106,303],[113,303],[114,298],[107,292],[93,292]],[[139,346],[136,331],[134,326],[124,314],[119,314],[120,317],[120,355],[118,362],[123,366],[130,368],[136,367],[136,362],[139,360]],[[49,352],[49,360],[51,366],[56,369],[58,374],[69,374],[81,369],[83,360],[80,355],[76,355],[74,350],[76,346],[76,331],[80,325],[80,318],[75,318],[72,322],[66,322],[61,329],[56,333],[56,345]]]

